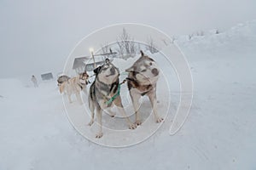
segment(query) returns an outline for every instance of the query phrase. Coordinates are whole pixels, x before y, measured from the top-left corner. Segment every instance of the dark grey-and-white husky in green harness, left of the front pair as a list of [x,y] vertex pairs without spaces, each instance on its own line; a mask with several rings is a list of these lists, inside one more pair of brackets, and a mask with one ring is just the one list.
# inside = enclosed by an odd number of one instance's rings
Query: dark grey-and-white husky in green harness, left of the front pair
[[96,73],[95,81],[90,86],[89,93],[89,107],[91,112],[91,120],[89,126],[94,122],[94,111],[96,110],[97,122],[99,123],[99,131],[96,133],[96,138],[102,137],[102,111],[110,110],[113,105],[116,105],[118,111],[125,116],[130,129],[137,126],[132,124],[130,119],[126,116],[121,98],[119,96],[119,70],[116,68],[109,59],[106,63],[97,67],[94,72]]

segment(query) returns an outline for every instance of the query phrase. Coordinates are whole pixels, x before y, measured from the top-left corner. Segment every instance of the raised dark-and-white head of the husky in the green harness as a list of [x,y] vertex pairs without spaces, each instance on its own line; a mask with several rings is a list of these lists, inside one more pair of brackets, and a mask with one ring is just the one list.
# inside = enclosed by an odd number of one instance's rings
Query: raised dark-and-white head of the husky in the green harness
[[106,59],[103,65],[98,66],[94,73],[96,73],[96,79],[105,84],[112,84],[119,78],[119,69],[109,59]]

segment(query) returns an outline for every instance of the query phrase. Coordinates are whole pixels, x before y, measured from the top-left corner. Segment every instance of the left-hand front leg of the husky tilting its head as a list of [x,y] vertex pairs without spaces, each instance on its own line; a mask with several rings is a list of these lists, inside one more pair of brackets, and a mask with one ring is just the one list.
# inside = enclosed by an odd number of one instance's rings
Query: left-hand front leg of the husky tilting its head
[[137,94],[136,92],[130,91],[130,96],[131,96],[131,101],[132,101],[133,109],[135,111],[135,116],[136,116],[135,124],[139,126],[142,124],[142,120],[139,116],[139,107],[140,107],[139,99],[141,98],[141,94]]

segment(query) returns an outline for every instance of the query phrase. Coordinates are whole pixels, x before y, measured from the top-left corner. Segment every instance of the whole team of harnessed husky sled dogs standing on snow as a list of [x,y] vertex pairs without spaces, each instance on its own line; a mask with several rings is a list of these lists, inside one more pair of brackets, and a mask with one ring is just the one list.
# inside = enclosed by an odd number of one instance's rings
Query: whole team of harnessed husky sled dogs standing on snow
[[[136,114],[136,122],[132,123],[128,116],[126,116],[122,100],[119,95],[120,85],[119,82],[119,69],[113,65],[109,59],[106,62],[98,66],[95,70],[95,80],[90,85],[90,91],[88,94],[88,103],[90,108],[90,122],[91,126],[94,122],[95,112],[97,122],[99,123],[99,129],[96,133],[96,138],[102,137],[102,111],[110,110],[115,105],[118,111],[125,116],[130,129],[135,129],[142,124],[142,120],[139,114],[139,99],[146,95],[150,100],[153,108],[155,122],[162,122],[163,118],[158,115],[157,101],[156,101],[156,83],[160,76],[160,70],[156,65],[154,59],[143,54],[141,51],[141,57],[131,65],[130,68],[125,70],[128,72],[126,82],[128,90],[131,96],[132,105]],[[61,76],[58,78],[58,86],[61,93],[67,94],[69,102],[71,100],[71,94],[75,94],[79,103],[82,103],[80,97],[80,91],[86,92],[86,85],[88,85],[89,75],[84,72],[79,74],[78,77]],[[125,82],[125,81],[124,81]],[[111,114],[114,116],[114,114]]]

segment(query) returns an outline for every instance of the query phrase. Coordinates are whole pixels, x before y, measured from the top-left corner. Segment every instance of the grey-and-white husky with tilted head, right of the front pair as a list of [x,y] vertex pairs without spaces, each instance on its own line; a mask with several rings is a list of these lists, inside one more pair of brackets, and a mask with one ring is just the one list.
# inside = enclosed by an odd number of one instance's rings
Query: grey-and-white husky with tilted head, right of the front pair
[[136,113],[136,124],[141,125],[142,121],[139,117],[139,99],[143,95],[147,95],[153,107],[155,121],[162,122],[163,118],[158,116],[156,103],[156,82],[159,78],[159,68],[154,59],[151,59],[141,51],[141,57],[125,71],[129,72],[127,85],[129,88],[131,101]]

